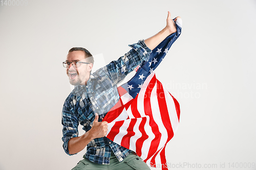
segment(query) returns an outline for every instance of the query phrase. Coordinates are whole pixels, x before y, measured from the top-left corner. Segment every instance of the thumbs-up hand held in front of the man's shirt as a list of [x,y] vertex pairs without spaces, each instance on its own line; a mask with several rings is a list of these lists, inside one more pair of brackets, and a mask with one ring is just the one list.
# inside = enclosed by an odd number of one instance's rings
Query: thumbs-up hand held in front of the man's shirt
[[90,131],[90,135],[93,139],[106,136],[108,132],[108,122],[98,122],[99,115],[95,113],[95,119],[93,121],[93,126]]

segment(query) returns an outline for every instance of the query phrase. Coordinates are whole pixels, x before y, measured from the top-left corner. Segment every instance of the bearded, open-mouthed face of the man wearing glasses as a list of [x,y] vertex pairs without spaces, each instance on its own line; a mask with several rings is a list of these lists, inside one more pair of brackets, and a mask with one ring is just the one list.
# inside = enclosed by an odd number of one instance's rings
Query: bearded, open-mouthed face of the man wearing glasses
[[[81,61],[87,62],[84,58],[83,51],[74,51],[67,55],[67,62]],[[93,64],[80,63],[79,67],[74,67],[72,64],[66,68],[67,75],[69,77],[69,82],[72,85],[86,85],[90,78],[90,71],[92,70]]]

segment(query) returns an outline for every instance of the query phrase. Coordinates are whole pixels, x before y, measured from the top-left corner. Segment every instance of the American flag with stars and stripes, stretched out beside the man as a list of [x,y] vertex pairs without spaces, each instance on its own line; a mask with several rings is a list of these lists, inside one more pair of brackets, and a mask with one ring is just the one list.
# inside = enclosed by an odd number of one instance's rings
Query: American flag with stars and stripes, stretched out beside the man
[[167,169],[165,146],[177,131],[180,107],[156,79],[154,70],[180,36],[182,20],[178,18],[175,24],[177,32],[166,37],[135,76],[118,87],[120,100],[103,119],[109,127],[106,137],[162,169]]

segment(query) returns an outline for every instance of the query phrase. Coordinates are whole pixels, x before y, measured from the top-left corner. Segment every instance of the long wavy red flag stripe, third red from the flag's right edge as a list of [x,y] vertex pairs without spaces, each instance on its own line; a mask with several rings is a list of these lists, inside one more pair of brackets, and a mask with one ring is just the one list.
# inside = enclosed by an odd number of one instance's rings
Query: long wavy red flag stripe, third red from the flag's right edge
[[151,110],[151,94],[154,86],[156,85],[156,76],[151,79],[150,83],[148,84],[144,96],[144,110],[145,114],[150,116],[150,126],[152,128],[152,132],[155,135],[155,138],[151,141],[150,150],[148,151],[147,158],[144,160],[145,162],[152,157],[157,152],[157,148],[160,142],[161,133],[159,132],[158,125],[156,124]]

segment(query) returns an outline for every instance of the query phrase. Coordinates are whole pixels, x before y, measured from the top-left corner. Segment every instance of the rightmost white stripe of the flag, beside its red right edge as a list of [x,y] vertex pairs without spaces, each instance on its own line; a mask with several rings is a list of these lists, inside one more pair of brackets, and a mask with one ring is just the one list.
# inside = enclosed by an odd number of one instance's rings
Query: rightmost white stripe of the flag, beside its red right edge
[[167,108],[168,108],[170,123],[172,124],[173,132],[175,134],[177,132],[178,126],[179,126],[179,119],[177,116],[175,103],[174,103],[172,96],[169,95],[169,92],[166,89],[164,89],[164,95],[165,95],[165,101],[166,101]]

